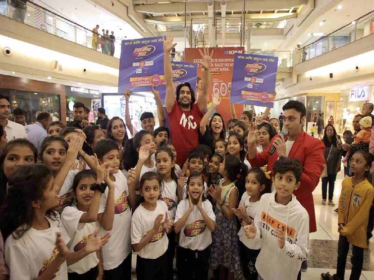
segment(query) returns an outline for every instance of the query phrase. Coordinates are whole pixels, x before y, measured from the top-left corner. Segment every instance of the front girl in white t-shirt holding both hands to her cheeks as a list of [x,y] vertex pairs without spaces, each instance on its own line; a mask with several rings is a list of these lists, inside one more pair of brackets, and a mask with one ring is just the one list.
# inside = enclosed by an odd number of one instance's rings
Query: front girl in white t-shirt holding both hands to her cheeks
[[202,174],[190,174],[187,186],[187,199],[178,204],[174,224],[175,232],[181,232],[177,248],[178,279],[207,280],[215,215],[212,203],[204,196]]

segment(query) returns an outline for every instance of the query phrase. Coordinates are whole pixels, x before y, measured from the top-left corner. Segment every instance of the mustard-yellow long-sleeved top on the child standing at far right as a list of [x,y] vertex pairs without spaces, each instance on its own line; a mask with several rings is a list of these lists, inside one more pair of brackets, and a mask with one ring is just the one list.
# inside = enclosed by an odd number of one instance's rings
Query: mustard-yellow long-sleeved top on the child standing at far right
[[353,187],[352,178],[346,177],[341,183],[338,224],[344,224],[340,234],[346,236],[349,243],[366,248],[366,230],[374,187],[367,179]]

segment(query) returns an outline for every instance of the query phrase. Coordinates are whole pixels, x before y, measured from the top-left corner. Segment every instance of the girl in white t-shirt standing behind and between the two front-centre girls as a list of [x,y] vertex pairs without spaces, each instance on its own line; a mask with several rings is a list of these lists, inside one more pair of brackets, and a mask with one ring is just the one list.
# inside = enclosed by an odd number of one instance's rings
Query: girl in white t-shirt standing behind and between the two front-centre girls
[[[156,166],[157,171],[162,178],[161,199],[167,206],[169,219],[174,221],[178,204],[178,179],[175,175],[173,152],[165,145],[159,147],[156,151]],[[167,238],[169,239],[167,246],[168,275],[172,276],[175,255],[175,233],[173,229],[171,229],[170,233],[167,234]]]

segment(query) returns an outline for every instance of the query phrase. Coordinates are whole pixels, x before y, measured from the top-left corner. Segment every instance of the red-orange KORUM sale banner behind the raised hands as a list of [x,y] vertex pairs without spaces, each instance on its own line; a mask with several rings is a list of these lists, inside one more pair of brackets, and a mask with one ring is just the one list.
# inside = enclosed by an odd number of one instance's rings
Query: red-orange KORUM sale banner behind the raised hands
[[[203,49],[200,48],[202,51]],[[210,47],[209,53],[213,53],[213,63],[211,68],[211,80],[209,84],[208,96],[211,100],[212,93],[221,95],[221,103],[217,106],[216,112],[223,117],[225,124],[232,118],[230,111],[230,94],[228,87],[231,85],[232,70],[234,65],[234,54],[244,53],[244,47]],[[185,48],[184,61],[197,63],[201,61],[199,48]],[[203,78],[204,69],[198,65],[198,77]],[[243,104],[235,104],[238,117],[243,112]]]

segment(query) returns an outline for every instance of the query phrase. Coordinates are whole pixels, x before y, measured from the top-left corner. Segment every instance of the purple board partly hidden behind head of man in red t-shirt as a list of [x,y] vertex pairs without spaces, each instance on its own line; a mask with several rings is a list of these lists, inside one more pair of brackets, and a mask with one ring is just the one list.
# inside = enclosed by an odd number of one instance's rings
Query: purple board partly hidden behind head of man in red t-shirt
[[[196,93],[196,80],[197,80],[197,69],[196,63],[189,63],[184,61],[171,62],[171,68],[173,69],[173,82],[174,86],[177,87],[181,83],[190,83],[192,90]],[[165,103],[166,86],[161,85],[156,89],[160,92],[162,103]]]

